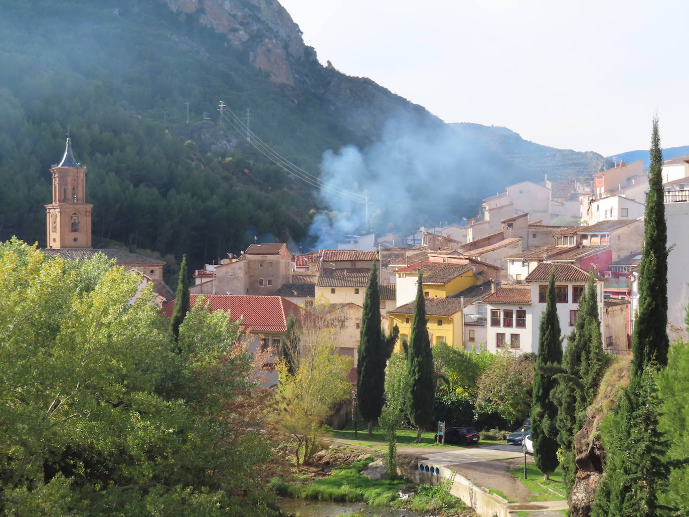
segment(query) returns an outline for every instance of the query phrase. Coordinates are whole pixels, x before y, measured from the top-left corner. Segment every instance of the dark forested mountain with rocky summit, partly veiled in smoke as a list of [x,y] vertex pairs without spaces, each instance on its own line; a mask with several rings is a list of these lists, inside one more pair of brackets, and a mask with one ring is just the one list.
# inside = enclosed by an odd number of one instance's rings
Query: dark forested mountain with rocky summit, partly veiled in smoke
[[[360,230],[364,196],[373,230],[400,230],[471,216],[514,181],[606,168],[506,128],[445,124],[322,66],[276,0],[5,0],[0,43],[0,239],[43,243],[68,131],[89,170],[94,243],[196,267],[254,238],[307,248],[318,213]],[[247,108],[308,181],[245,139]],[[353,194],[316,191],[319,175]]]

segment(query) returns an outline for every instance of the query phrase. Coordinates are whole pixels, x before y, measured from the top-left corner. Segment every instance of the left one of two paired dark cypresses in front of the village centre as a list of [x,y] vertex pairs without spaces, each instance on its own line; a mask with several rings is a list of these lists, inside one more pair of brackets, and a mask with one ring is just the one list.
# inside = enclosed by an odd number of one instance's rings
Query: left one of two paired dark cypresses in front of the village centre
[[369,423],[369,434],[373,432],[373,424],[380,418],[384,404],[387,358],[387,347],[380,328],[378,270],[374,261],[364,296],[356,365],[358,408],[361,417]]

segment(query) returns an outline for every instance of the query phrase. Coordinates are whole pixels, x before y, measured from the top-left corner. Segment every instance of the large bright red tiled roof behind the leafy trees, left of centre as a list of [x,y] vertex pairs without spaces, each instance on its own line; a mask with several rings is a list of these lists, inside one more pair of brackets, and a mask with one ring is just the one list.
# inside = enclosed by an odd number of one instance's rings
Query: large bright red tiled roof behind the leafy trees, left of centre
[[[235,294],[190,294],[189,307],[194,307],[198,296],[205,296],[210,310],[229,311],[230,319],[242,318],[242,327],[253,332],[285,332],[289,314],[300,314],[295,303],[282,296],[249,296]],[[170,318],[176,300],[161,309],[161,314]]]

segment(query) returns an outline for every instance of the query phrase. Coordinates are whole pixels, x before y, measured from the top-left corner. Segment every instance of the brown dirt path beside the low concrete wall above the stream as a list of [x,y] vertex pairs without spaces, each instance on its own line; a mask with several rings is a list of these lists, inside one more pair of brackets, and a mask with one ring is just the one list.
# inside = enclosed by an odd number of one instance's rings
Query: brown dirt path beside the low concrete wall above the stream
[[473,463],[461,463],[460,465],[448,465],[457,474],[464,476],[474,485],[492,488],[502,492],[505,496],[515,501],[528,501],[531,490],[527,489],[508,472],[510,469],[520,467],[523,460],[503,461],[476,461]]

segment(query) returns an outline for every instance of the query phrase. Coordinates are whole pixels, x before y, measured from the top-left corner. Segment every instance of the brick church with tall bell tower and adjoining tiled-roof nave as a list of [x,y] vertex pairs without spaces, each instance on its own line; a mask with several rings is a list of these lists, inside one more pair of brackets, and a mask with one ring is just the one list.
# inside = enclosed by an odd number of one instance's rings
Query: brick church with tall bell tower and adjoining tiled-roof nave
[[84,165],[74,159],[72,141],[67,139],[65,154],[52,174],[52,203],[45,205],[45,252],[69,261],[90,259],[102,253],[117,265],[141,275],[139,293],[143,285],[153,284],[158,302],[169,301],[174,293],[163,280],[165,262],[113,248],[91,247],[91,216],[93,205],[86,203],[86,172]]

